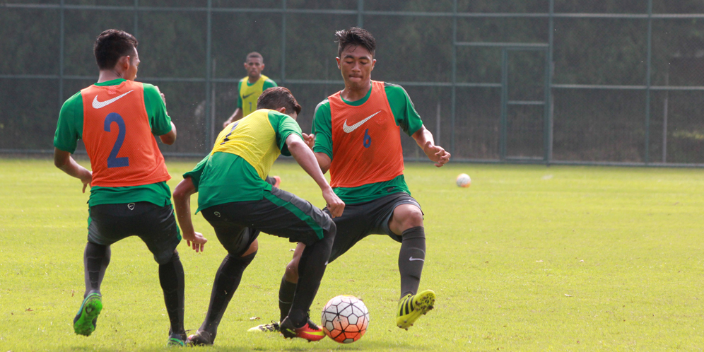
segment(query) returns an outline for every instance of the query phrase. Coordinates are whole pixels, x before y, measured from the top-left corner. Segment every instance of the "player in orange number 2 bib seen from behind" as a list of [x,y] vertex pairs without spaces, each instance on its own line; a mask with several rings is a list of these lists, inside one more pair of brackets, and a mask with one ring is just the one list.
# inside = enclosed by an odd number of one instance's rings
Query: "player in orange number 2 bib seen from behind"
[[[83,256],[86,292],[74,318],[74,331],[90,336],[95,330],[110,245],[136,235],[159,264],[171,324],[168,344],[183,346],[184,274],[176,251],[181,236],[166,184],[171,177],[154,138],[171,145],[176,128],[158,88],[134,81],[140,62],[134,36],[105,30],[93,51],[100,69],[98,83],[64,102],[54,136],[54,165],[80,179],[83,192],[90,186]],[[71,157],[78,139],[86,145],[93,172]]]

